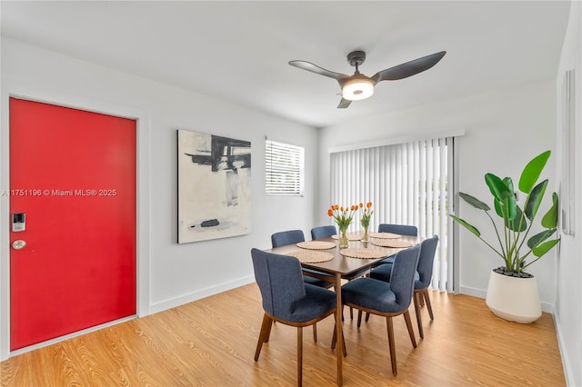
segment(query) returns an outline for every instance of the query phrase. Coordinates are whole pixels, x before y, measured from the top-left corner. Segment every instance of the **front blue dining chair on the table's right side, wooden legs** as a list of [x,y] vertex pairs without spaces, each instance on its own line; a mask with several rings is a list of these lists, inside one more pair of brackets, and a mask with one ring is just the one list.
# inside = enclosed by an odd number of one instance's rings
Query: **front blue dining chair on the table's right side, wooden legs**
[[392,373],[396,375],[396,348],[392,318],[404,315],[412,346],[416,348],[415,332],[410,321],[408,307],[412,302],[416,265],[420,255],[420,244],[396,253],[393,280],[390,283],[374,278],[362,277],[342,286],[342,303],[359,311],[386,317],[388,346]]

